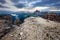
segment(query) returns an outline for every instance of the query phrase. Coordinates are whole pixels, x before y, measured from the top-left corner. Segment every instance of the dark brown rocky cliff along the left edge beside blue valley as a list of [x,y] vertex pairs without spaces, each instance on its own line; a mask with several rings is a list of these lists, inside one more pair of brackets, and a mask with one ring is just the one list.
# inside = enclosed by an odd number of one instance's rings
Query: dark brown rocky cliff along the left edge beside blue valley
[[13,29],[10,15],[0,15],[0,39]]

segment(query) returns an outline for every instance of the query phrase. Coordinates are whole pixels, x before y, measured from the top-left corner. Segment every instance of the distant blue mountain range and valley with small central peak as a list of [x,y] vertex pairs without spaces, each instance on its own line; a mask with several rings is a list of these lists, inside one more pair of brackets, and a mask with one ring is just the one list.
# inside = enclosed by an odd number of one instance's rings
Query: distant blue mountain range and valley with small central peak
[[[0,15],[2,15],[2,16],[6,16],[7,14],[11,15],[13,22],[17,18],[19,18],[23,22],[25,18],[38,17],[38,16],[43,17],[45,14],[50,14],[50,13],[52,14],[52,12],[40,12],[38,10],[34,11],[33,13],[31,13],[31,12],[0,11]],[[53,13],[60,15],[60,12],[53,12]]]

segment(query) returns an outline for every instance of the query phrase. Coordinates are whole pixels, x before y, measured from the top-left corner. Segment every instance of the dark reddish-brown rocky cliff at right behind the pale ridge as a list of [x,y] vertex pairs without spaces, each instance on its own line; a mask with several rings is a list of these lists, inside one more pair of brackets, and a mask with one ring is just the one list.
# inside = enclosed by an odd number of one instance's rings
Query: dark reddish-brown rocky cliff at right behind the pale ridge
[[60,22],[60,15],[58,15],[56,13],[47,13],[47,14],[45,14],[43,16],[44,16],[43,18],[45,18],[45,19]]

